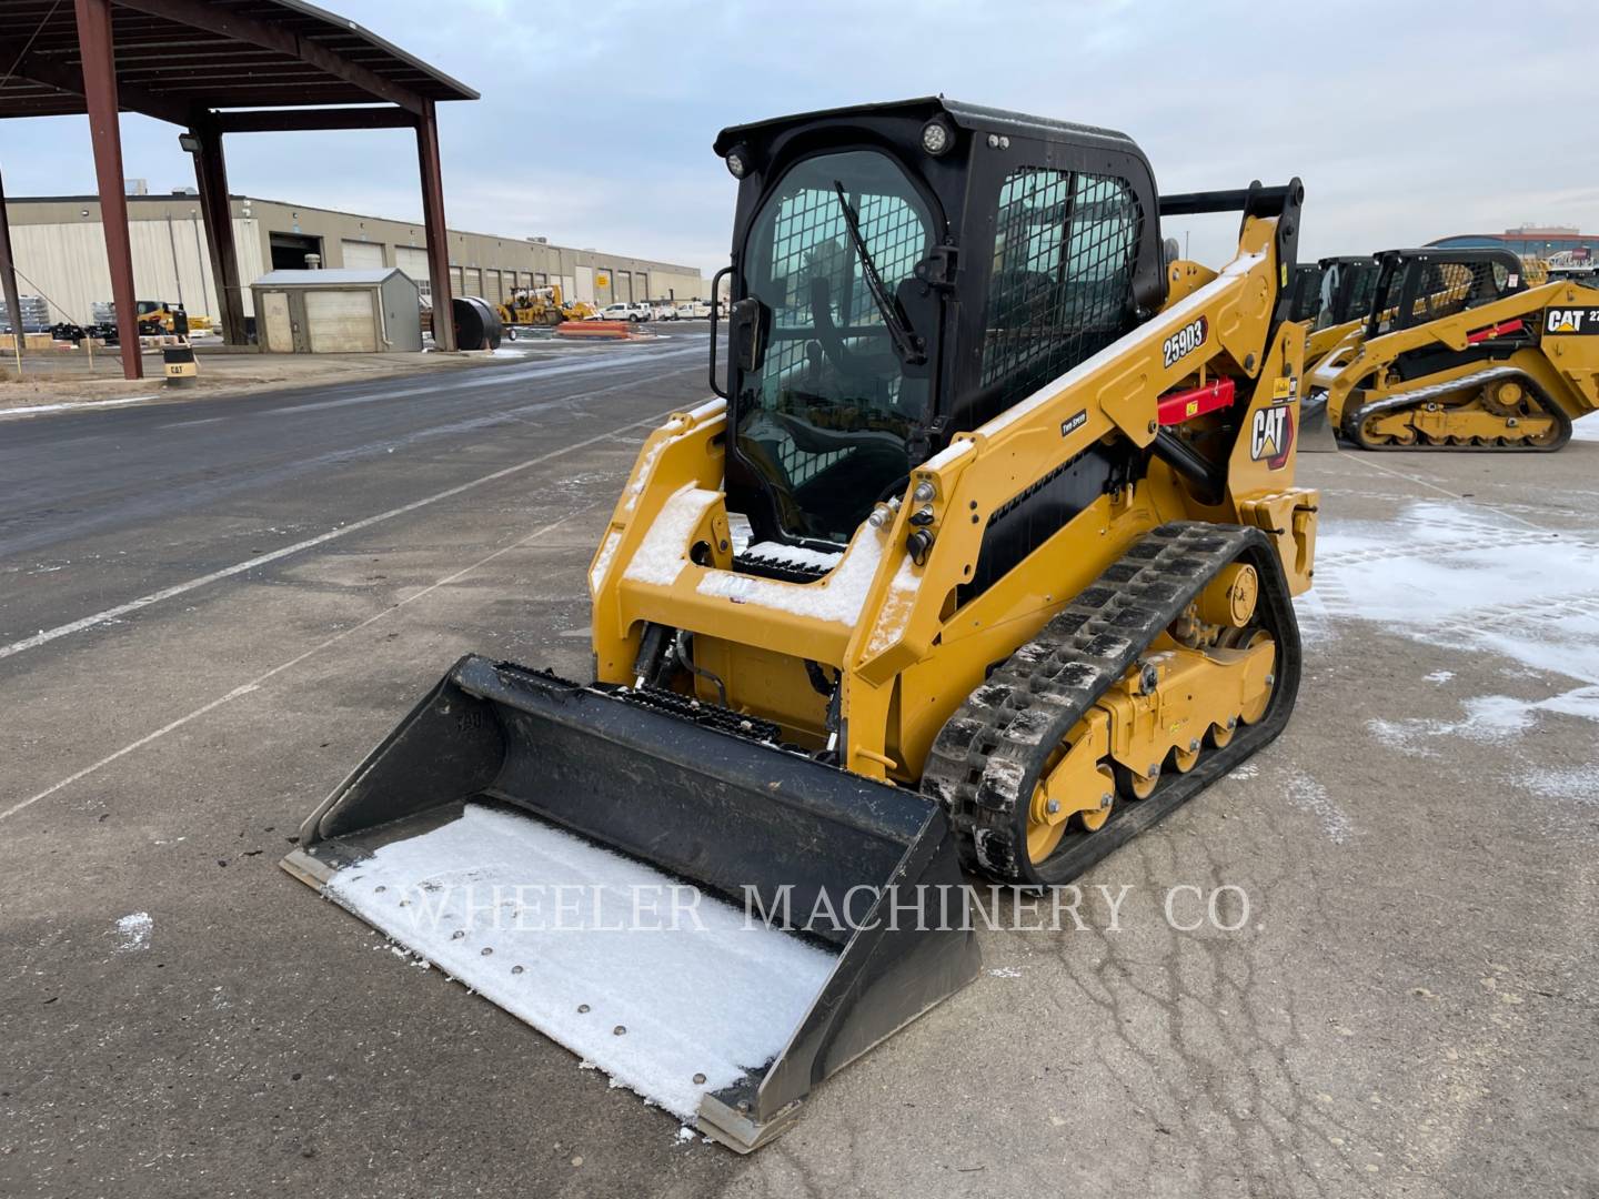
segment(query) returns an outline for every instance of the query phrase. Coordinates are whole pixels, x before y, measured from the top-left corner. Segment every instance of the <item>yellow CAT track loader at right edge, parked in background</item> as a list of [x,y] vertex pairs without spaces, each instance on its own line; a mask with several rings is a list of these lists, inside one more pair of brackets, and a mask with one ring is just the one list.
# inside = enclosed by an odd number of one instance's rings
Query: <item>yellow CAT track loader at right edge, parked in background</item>
[[1361,449],[1553,451],[1599,408],[1599,289],[1527,286],[1505,249],[1377,259],[1364,328],[1308,360],[1313,430],[1326,419]]

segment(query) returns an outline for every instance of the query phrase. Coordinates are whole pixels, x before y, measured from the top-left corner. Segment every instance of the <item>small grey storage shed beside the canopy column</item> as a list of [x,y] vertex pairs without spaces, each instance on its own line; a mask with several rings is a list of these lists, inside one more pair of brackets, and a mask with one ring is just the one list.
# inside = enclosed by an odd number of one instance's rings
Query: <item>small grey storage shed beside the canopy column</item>
[[422,349],[417,286],[398,267],[272,270],[249,289],[256,342],[267,353]]

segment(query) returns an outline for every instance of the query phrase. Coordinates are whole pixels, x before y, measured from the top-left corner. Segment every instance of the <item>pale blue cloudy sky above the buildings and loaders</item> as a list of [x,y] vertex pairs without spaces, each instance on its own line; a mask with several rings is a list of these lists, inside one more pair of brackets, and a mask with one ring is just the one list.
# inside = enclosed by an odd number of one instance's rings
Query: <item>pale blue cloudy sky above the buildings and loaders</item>
[[[1599,229],[1591,0],[326,0],[483,94],[441,106],[449,224],[688,262],[728,254],[724,125],[947,96],[1122,129],[1162,192],[1298,174],[1303,256],[1524,222]],[[414,136],[238,134],[232,190],[417,219]],[[173,126],[125,173],[192,185]],[[0,123],[10,195],[94,190],[82,118]],[[1228,257],[1236,219],[1191,229]]]

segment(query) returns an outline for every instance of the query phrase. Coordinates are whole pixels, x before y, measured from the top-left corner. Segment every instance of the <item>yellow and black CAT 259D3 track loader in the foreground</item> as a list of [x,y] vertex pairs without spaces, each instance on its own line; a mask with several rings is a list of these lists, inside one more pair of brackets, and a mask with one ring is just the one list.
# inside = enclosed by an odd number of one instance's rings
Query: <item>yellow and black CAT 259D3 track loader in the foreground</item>
[[975,977],[963,866],[1063,882],[1278,735],[1316,494],[1298,181],[1161,200],[1122,134],[943,99],[716,152],[728,360],[600,539],[595,678],[462,659],[285,866],[748,1151]]

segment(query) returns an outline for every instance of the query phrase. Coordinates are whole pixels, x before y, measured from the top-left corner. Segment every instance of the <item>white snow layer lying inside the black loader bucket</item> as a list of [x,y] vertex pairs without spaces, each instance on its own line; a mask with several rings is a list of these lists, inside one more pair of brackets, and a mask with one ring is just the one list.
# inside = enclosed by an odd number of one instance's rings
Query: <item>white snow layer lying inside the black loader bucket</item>
[[345,866],[326,894],[686,1121],[705,1092],[782,1050],[836,961],[632,858],[480,804]]

